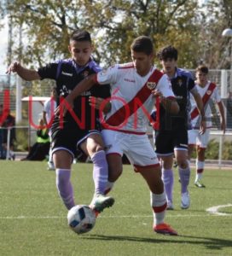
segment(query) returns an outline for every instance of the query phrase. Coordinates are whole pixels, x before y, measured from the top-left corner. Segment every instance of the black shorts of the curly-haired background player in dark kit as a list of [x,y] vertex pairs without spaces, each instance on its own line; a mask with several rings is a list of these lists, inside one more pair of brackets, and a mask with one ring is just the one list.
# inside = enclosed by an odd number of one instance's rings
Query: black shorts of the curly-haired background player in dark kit
[[155,152],[160,155],[174,153],[175,149],[188,150],[188,131],[171,130],[156,131],[155,133]]

